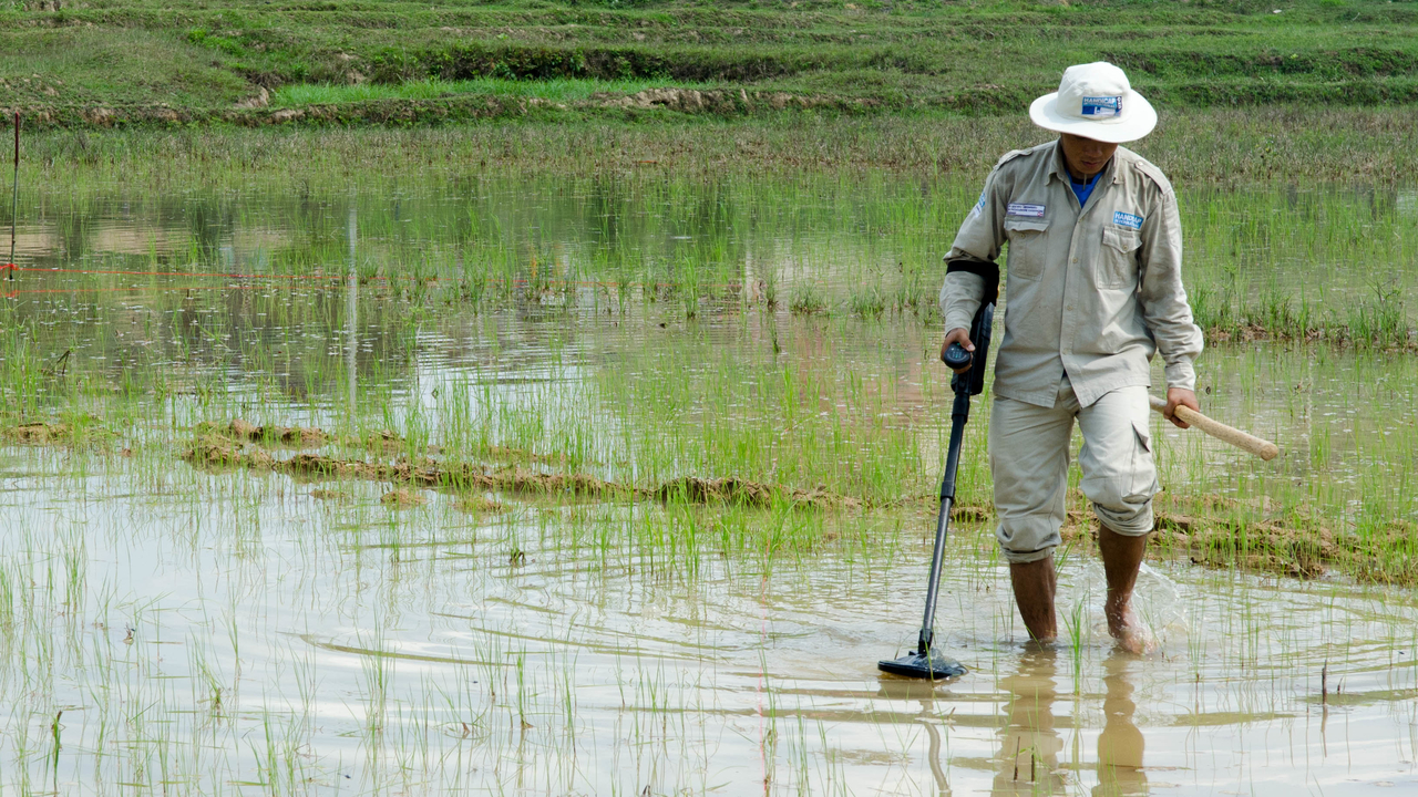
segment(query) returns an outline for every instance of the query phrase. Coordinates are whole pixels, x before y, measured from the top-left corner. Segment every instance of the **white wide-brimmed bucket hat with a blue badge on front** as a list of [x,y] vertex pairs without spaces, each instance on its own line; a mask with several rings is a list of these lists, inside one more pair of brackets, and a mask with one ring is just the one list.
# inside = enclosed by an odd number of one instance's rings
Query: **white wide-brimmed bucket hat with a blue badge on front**
[[1151,104],[1107,61],[1064,69],[1059,89],[1029,105],[1029,119],[1045,130],[1107,143],[1137,140],[1157,126]]

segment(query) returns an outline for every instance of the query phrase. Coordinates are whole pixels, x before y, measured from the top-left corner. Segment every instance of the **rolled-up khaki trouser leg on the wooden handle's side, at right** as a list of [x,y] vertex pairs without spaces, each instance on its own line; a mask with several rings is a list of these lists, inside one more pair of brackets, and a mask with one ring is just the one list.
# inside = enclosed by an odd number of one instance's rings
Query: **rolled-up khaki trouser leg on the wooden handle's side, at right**
[[1083,469],[1079,486],[1093,502],[1098,519],[1126,536],[1153,529],[1157,467],[1147,413],[1146,387],[1113,390],[1078,413],[1083,433],[1083,448],[1078,452]]

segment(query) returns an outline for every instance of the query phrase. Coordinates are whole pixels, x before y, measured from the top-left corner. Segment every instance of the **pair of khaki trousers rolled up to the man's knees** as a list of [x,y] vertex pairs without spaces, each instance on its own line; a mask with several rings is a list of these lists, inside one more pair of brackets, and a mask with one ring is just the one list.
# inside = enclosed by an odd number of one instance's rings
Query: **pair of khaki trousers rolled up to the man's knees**
[[995,396],[990,471],[1000,516],[995,537],[1005,559],[1037,562],[1061,542],[1075,418],[1083,433],[1081,486],[1098,519],[1126,536],[1151,530],[1151,499],[1159,486],[1147,411],[1147,389],[1140,386],[1120,387],[1079,407],[1066,376],[1052,407]]

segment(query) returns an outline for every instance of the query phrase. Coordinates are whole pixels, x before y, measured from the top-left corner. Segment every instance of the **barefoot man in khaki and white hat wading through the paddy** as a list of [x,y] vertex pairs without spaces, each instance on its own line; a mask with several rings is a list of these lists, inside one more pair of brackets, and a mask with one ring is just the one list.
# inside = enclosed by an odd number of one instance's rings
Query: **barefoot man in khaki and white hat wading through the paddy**
[[1130,600],[1159,489],[1147,425],[1154,353],[1166,363],[1166,416],[1185,428],[1176,407],[1200,410],[1201,330],[1181,285],[1177,197],[1160,169],[1117,146],[1157,123],[1117,67],[1069,67],[1029,118],[1059,139],[1005,155],[986,179],[946,255],[944,346],[974,350],[970,319],[1008,243],[990,469],[1020,615],[1034,640],[1058,635],[1054,549],[1076,418],[1081,486],[1102,523],[1107,628],[1122,648],[1146,652],[1154,642]]

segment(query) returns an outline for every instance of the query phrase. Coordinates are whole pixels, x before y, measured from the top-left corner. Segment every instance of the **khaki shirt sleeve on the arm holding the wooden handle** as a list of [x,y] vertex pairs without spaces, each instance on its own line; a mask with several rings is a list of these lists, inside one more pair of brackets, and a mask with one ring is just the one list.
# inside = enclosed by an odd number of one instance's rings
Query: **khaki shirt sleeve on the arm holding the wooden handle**
[[1181,217],[1177,196],[1163,193],[1159,213],[1149,214],[1141,228],[1141,279],[1139,299],[1143,321],[1157,342],[1167,374],[1167,387],[1197,389],[1197,356],[1201,329],[1193,322],[1187,289],[1181,284]]

